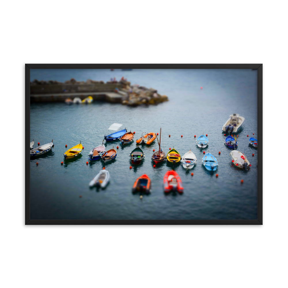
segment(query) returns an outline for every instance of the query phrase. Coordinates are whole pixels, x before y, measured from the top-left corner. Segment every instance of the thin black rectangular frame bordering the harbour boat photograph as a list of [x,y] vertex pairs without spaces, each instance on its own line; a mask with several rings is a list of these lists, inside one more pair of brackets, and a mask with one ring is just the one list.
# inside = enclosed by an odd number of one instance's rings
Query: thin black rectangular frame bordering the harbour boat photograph
[[[252,220],[35,220],[30,217],[30,69],[255,69],[258,110],[257,219]],[[25,225],[262,225],[263,224],[262,64],[25,64]]]

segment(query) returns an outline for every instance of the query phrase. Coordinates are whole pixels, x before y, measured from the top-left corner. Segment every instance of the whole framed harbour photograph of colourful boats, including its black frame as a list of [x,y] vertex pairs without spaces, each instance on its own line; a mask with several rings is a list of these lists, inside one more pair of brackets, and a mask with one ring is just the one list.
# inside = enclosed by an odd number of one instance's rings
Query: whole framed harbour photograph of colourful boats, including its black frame
[[25,224],[262,224],[262,64],[26,64],[25,83]]

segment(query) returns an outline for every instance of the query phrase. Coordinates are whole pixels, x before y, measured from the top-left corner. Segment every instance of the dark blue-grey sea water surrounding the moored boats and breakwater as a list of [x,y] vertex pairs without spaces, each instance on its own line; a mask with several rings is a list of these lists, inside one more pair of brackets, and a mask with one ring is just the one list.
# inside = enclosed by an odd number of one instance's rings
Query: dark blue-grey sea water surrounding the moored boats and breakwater
[[[31,219],[256,219],[257,149],[249,145],[248,139],[250,136],[257,138],[257,71],[31,70],[31,81],[64,82],[75,78],[107,82],[111,77],[119,80],[122,76],[131,84],[157,89],[160,94],[167,95],[169,101],[139,107],[104,102],[70,106],[65,103],[31,104],[31,141],[34,138],[35,145],[37,142],[41,145],[53,139],[55,145],[46,156],[30,161]],[[245,117],[237,141],[238,150],[251,163],[248,172],[232,166],[230,149],[224,146],[226,137],[221,128],[232,113]],[[116,160],[105,165],[110,173],[110,183],[105,190],[90,189],[90,180],[104,165],[101,160],[86,165],[87,154],[102,143],[104,134],[114,122],[123,124],[128,131],[135,131],[134,142],[124,148],[120,141],[106,143],[106,150],[119,146]],[[143,131],[160,133],[160,127],[161,147],[166,154],[169,147],[174,146],[181,156],[191,149],[197,157],[193,169],[187,171],[182,164],[175,166],[183,182],[183,195],[163,192],[163,176],[171,166],[164,162],[153,168],[151,156],[152,150],[158,149],[157,141],[149,147],[142,146],[145,160],[129,169],[128,156],[136,147],[136,139]],[[200,149],[194,135],[197,138],[203,132],[208,134],[209,145]],[[82,156],[65,162],[63,153],[80,141],[84,146]],[[216,173],[203,167],[203,150],[209,150],[217,158],[218,178]],[[218,155],[219,151],[221,155]],[[61,161],[64,161],[62,166]],[[152,191],[141,200],[131,189],[137,177],[144,173],[151,179]]]

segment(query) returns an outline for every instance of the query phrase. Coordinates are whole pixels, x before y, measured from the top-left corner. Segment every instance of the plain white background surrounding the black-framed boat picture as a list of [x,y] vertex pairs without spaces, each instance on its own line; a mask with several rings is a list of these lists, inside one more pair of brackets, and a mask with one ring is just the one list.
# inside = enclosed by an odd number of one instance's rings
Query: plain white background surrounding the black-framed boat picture
[[[283,3],[1,3],[1,287],[287,285]],[[24,226],[24,63],[263,63],[264,225]]]

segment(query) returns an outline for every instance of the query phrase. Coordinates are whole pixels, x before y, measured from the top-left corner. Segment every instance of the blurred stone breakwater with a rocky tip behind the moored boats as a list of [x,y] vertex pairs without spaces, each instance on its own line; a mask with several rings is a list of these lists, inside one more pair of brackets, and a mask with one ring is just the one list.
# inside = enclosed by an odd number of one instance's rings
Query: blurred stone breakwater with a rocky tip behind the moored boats
[[92,96],[95,101],[122,103],[123,105],[137,106],[158,104],[168,101],[166,95],[160,95],[154,88],[131,85],[130,82],[120,81],[93,81],[88,79],[76,81],[70,79],[64,83],[57,81],[38,81],[30,83],[30,102],[64,102],[65,99],[79,97],[81,100]]

